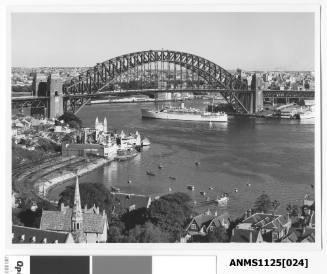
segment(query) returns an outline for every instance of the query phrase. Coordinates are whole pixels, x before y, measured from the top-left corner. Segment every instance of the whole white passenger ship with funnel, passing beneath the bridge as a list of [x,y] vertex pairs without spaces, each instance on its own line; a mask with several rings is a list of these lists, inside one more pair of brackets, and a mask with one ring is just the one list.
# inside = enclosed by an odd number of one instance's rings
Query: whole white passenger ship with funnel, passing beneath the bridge
[[184,103],[180,108],[164,108],[161,110],[141,109],[143,118],[182,120],[182,121],[203,121],[203,122],[227,122],[225,112],[206,112],[195,108],[185,108]]

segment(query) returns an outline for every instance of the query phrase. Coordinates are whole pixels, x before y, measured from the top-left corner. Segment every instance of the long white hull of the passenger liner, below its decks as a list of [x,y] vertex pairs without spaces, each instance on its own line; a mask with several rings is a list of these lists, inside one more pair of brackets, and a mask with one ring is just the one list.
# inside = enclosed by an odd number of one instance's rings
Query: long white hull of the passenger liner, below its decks
[[147,109],[141,109],[142,118],[164,119],[164,120],[181,120],[181,121],[199,121],[199,122],[227,122],[227,115],[201,115],[192,113],[169,113]]

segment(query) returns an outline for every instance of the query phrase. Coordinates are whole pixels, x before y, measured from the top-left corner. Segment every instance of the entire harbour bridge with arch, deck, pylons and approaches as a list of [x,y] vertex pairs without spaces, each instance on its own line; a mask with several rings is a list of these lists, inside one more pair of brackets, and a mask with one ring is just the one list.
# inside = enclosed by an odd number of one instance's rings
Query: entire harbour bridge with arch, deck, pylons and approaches
[[251,83],[200,56],[172,50],[148,50],[121,55],[66,81],[35,76],[33,96],[12,98],[12,107],[43,108],[48,117],[76,113],[94,98],[175,92],[220,93],[233,111],[255,113],[263,98],[313,98],[314,91],[262,90],[256,75]]

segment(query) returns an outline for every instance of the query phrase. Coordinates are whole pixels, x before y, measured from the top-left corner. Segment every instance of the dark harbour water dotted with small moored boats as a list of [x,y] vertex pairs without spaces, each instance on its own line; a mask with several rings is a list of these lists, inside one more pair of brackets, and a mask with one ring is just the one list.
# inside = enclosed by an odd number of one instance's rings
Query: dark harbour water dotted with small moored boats
[[[205,107],[203,101],[188,104]],[[140,109],[153,107],[154,103],[97,104],[78,113],[86,127],[94,127],[97,116],[100,121],[106,116],[109,129],[138,130],[151,141],[137,157],[90,172],[81,183],[100,182],[108,188],[151,196],[168,193],[171,188],[197,201],[227,192],[227,209],[233,217],[250,208],[263,192],[280,201],[278,212],[285,212],[288,203],[301,204],[306,193],[313,194],[314,124],[229,117],[228,123],[210,127],[205,122],[142,119]],[[147,170],[155,176],[147,175]],[[53,189],[50,198],[57,199],[71,183]],[[187,185],[194,185],[195,190],[188,190]]]

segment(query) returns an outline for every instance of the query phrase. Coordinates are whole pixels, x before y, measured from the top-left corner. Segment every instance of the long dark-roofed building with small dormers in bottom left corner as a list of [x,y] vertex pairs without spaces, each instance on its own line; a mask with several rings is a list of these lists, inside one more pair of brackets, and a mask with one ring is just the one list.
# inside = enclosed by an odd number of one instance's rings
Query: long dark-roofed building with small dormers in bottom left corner
[[67,244],[74,243],[70,232],[56,232],[25,226],[12,226],[13,244]]

